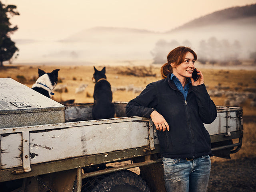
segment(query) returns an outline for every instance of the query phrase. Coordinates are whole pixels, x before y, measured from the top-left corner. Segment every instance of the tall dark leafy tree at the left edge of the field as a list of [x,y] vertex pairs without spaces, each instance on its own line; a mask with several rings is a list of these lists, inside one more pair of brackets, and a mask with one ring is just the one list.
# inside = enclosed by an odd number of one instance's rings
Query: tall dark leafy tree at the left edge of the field
[[15,5],[6,6],[0,1],[0,66],[3,66],[3,62],[10,60],[14,53],[18,51],[15,43],[10,38],[10,34],[18,30],[18,27],[12,27],[9,21],[10,16],[20,15],[16,8]]

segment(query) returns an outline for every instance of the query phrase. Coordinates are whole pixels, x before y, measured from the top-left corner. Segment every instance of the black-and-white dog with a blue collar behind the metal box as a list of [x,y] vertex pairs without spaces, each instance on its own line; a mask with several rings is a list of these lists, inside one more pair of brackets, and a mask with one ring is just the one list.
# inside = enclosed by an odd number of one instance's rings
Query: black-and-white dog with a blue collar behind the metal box
[[51,98],[52,95],[54,95],[52,90],[58,81],[58,71],[59,69],[55,69],[50,73],[46,73],[43,70],[38,69],[39,78],[33,84],[32,89],[48,98]]

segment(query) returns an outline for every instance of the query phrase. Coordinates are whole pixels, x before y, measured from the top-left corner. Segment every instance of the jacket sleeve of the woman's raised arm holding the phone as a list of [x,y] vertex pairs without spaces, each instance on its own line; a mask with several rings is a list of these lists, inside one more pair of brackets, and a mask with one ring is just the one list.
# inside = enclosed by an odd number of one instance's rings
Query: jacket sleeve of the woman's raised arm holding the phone
[[196,100],[199,107],[199,116],[205,124],[212,123],[217,117],[217,109],[211,100],[204,84],[192,86],[196,94]]

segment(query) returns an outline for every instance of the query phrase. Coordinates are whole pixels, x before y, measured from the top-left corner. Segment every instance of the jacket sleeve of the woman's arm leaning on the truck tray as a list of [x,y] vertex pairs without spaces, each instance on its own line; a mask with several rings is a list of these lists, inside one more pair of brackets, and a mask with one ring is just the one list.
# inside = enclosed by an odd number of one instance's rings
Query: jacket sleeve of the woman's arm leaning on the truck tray
[[150,83],[146,88],[133,100],[126,105],[127,116],[142,116],[150,118],[150,114],[155,110],[153,107],[157,104],[155,83]]

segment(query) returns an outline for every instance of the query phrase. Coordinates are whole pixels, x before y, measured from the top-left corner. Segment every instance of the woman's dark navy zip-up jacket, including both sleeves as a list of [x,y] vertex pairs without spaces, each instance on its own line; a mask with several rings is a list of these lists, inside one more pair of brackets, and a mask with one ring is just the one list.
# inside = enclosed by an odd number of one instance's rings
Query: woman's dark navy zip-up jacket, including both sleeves
[[186,100],[170,74],[150,83],[126,106],[127,116],[144,116],[156,110],[168,122],[170,131],[157,130],[161,154],[166,158],[197,158],[211,154],[210,135],[205,124],[212,123],[217,110],[204,84],[190,84]]

